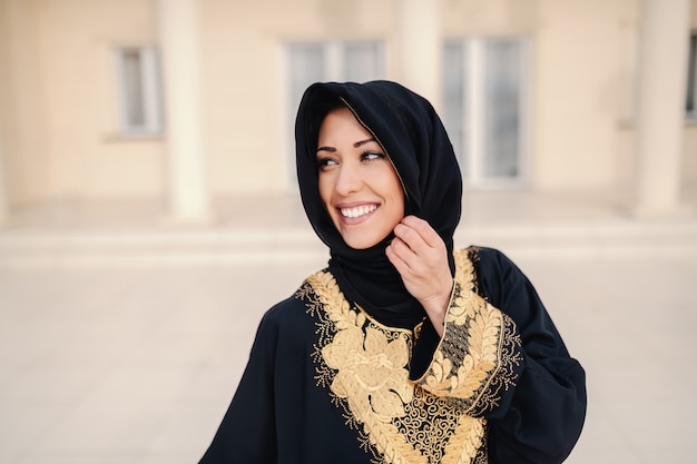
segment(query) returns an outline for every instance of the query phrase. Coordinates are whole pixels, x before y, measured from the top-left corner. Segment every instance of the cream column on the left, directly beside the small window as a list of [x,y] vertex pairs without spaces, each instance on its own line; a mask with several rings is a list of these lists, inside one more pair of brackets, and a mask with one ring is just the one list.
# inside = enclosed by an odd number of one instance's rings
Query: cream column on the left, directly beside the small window
[[169,213],[175,221],[209,217],[199,81],[197,0],[158,0],[166,109]]

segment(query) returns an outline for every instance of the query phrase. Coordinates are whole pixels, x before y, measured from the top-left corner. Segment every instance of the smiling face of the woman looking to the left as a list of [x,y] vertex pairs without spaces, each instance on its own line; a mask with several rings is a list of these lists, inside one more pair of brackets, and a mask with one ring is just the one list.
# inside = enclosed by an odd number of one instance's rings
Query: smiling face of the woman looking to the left
[[404,217],[400,179],[373,136],[348,108],[332,110],[317,139],[320,198],[346,245],[377,245]]

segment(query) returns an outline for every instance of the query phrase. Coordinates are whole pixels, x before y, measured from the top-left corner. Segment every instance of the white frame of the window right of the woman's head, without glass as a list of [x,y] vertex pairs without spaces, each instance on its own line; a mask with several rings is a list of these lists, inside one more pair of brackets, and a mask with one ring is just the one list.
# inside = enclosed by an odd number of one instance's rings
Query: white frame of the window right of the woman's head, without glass
[[[514,40],[520,46],[520,101],[519,101],[519,140],[516,177],[493,177],[484,172],[485,161],[485,79],[484,46],[488,41]],[[468,37],[449,40],[449,43],[462,46],[463,67],[465,70],[462,108],[464,111],[462,134],[464,147],[455,147],[458,159],[463,166],[465,188],[508,188],[520,187],[528,179],[529,145],[529,45],[523,37]],[[444,72],[446,72],[444,70]],[[467,166],[465,166],[467,165]]]

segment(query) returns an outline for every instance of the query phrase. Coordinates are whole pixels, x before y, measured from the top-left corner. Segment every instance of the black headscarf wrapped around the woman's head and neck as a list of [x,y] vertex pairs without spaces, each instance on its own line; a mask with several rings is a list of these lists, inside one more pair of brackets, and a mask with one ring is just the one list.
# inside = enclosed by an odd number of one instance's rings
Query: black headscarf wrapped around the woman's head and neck
[[460,221],[462,178],[452,144],[424,98],[390,81],[314,83],[303,96],[295,122],[297,179],[305,213],[330,247],[330,270],[342,292],[379,322],[413,328],[425,313],[406,292],[385,256],[392,236],[369,249],[347,246],[320,199],[316,162],[320,126],[326,113],[347,106],[395,167],[404,189],[405,215],[426,220],[448,248]]

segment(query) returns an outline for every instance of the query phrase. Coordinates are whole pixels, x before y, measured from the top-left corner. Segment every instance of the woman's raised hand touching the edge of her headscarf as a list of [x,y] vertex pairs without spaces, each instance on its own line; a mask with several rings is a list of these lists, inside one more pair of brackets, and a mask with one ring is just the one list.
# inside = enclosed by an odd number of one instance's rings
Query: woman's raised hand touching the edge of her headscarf
[[442,336],[453,286],[445,244],[429,223],[416,216],[402,219],[394,235],[386,249],[387,258]]

